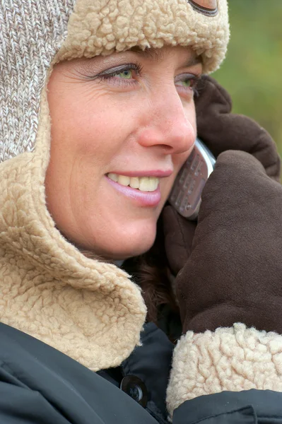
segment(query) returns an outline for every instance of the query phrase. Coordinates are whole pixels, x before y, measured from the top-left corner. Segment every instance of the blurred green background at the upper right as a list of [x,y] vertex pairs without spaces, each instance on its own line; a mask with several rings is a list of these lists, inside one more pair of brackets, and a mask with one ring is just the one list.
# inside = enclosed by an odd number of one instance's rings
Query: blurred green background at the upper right
[[228,0],[231,38],[213,76],[233,111],[264,126],[282,155],[282,0]]

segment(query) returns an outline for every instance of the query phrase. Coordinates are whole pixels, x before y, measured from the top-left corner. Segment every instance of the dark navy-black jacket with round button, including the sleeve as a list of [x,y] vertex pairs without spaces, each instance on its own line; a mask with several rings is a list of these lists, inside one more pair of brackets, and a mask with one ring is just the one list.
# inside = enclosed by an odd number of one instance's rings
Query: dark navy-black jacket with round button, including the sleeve
[[[0,341],[1,424],[167,422],[172,343],[153,324],[146,325],[143,346],[122,367],[99,373],[4,324]],[[125,391],[119,389],[124,377]],[[282,394],[249,390],[200,396],[177,408],[172,422],[282,423]]]

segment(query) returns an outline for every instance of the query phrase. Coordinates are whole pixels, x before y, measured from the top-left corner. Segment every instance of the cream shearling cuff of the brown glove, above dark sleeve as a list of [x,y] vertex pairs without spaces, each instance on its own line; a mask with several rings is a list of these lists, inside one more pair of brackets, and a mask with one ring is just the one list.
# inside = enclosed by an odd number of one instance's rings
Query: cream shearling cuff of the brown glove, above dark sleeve
[[249,389],[282,391],[282,336],[234,324],[180,338],[167,391],[170,416],[197,396]]

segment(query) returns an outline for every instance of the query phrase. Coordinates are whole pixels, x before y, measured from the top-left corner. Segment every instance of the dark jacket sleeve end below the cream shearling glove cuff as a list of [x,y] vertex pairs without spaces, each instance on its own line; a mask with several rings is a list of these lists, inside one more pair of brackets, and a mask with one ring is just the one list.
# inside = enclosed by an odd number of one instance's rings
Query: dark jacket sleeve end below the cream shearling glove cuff
[[282,393],[271,390],[221,391],[184,402],[173,424],[281,424]]

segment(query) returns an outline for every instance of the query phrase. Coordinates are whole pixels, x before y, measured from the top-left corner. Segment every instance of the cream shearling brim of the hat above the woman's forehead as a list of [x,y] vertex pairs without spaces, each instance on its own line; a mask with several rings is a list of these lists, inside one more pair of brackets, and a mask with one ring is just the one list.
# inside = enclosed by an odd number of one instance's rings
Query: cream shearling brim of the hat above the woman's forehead
[[204,72],[218,69],[229,40],[228,5],[205,16],[187,0],[78,0],[57,61],[122,52],[134,46],[192,46]]

